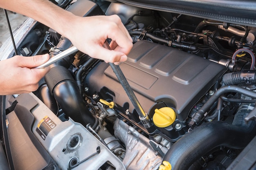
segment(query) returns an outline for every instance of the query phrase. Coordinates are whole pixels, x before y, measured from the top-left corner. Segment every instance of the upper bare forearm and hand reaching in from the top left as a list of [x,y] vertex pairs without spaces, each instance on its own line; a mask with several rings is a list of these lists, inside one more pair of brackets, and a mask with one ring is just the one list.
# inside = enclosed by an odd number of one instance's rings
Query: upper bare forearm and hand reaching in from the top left
[[[78,17],[48,0],[0,0],[0,7],[31,17],[67,37],[80,51],[106,62],[122,62],[132,39],[117,15]],[[102,47],[113,40],[112,51]]]

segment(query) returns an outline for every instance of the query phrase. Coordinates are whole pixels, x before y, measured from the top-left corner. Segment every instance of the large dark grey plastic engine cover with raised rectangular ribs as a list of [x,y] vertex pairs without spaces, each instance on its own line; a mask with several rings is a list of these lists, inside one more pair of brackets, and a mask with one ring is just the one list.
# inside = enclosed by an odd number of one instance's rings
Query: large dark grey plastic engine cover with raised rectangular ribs
[[[175,109],[180,121],[186,119],[191,108],[227,70],[196,55],[144,40],[134,44],[128,61],[121,63],[120,68],[151,118],[154,110],[150,108],[156,102],[164,102]],[[115,93],[115,103],[120,106],[129,103],[130,112],[134,111],[108,64],[95,67],[85,82],[90,93],[110,89]]]

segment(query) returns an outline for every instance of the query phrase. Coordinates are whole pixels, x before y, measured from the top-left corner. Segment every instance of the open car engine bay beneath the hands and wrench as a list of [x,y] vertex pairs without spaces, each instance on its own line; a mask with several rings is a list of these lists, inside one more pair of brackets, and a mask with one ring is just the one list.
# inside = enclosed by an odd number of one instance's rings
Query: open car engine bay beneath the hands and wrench
[[[239,1],[236,12],[229,1],[54,2],[83,17],[121,18],[133,47],[119,67],[145,114],[110,64],[68,55],[50,66],[37,91],[1,98],[1,141],[15,170],[256,168],[256,21],[248,17],[255,2],[247,12]],[[24,57],[54,57],[72,46],[31,18],[15,35]],[[1,56],[14,55],[9,45]]]

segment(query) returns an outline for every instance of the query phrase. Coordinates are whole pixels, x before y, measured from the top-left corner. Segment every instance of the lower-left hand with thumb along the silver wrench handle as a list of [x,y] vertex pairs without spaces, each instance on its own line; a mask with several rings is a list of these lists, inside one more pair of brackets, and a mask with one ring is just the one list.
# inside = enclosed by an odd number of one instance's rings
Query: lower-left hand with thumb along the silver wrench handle
[[49,55],[22,57],[16,55],[0,62],[0,95],[21,94],[35,91],[39,80],[49,68],[37,69],[49,60]]

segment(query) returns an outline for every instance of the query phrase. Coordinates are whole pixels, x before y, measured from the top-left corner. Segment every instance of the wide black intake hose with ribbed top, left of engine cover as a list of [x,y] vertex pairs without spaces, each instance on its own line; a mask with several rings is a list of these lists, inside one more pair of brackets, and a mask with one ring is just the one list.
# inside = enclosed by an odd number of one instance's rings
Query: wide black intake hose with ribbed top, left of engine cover
[[67,117],[93,129],[98,125],[97,118],[90,113],[83,101],[70,72],[64,66],[55,66],[45,75],[50,92]]

